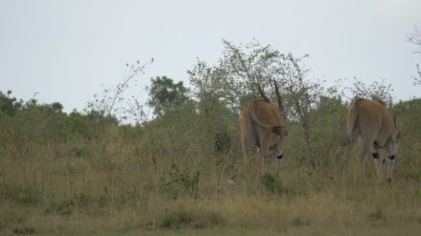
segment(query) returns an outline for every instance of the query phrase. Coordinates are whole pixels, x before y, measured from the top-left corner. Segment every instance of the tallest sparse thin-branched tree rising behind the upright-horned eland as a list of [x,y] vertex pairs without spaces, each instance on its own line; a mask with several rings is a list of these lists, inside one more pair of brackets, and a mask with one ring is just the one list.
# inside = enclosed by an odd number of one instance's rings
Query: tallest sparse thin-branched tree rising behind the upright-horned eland
[[284,106],[287,117],[303,126],[307,155],[310,155],[309,114],[316,107],[319,97],[325,94],[325,89],[322,86],[324,81],[307,77],[310,69],[303,61],[308,55],[283,55],[272,46],[262,46],[256,40],[240,46],[226,40],[222,43],[224,50],[217,66],[198,61],[197,66],[188,71],[195,95],[199,99],[216,97],[240,117],[244,105],[260,97],[258,84],[268,97],[276,97],[275,80],[281,95],[287,100]]

